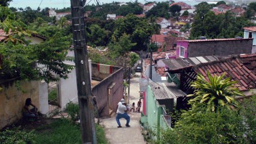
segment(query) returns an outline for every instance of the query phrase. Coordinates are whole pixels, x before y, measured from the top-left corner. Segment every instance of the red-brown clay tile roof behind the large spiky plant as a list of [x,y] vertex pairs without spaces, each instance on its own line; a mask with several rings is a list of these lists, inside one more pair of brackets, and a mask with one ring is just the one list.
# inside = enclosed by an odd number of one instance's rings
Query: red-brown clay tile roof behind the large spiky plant
[[232,81],[237,81],[235,85],[240,91],[246,91],[256,88],[256,54],[240,55],[234,58],[224,59],[221,61],[209,62],[206,64],[196,65],[193,68],[196,73],[201,73],[207,79],[209,73],[217,76],[225,74]]

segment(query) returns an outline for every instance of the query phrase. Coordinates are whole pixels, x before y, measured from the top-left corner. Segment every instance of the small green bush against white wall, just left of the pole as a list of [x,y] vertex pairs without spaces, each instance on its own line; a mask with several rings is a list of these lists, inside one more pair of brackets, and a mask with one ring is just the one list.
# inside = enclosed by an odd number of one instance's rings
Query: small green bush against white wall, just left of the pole
[[70,116],[72,121],[79,120],[79,105],[70,101],[66,106],[67,114]]

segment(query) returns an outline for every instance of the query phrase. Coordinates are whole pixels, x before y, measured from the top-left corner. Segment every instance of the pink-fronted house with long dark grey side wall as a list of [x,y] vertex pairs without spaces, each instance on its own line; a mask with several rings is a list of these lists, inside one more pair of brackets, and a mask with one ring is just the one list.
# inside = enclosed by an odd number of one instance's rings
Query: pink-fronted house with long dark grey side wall
[[177,41],[177,58],[209,55],[239,55],[252,52],[253,38],[222,38]]

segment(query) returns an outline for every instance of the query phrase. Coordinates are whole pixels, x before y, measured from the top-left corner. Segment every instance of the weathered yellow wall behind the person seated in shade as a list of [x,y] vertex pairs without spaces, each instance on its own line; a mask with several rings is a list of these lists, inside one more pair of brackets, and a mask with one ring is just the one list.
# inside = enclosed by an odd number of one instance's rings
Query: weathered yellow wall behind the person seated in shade
[[2,85],[0,91],[0,130],[22,118],[26,98],[31,98],[32,103],[39,107],[38,82],[20,82],[25,93],[18,91],[14,83],[7,85],[9,86]]

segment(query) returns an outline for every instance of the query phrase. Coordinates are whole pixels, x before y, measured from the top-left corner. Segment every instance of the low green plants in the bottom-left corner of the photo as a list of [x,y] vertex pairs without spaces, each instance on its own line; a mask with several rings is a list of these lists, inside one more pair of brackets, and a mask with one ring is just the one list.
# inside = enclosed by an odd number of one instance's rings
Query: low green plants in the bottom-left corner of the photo
[[7,128],[0,132],[0,143],[2,144],[32,144],[34,141],[34,131],[25,131],[20,127]]

